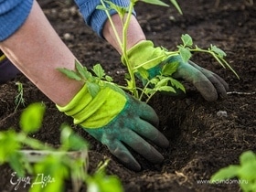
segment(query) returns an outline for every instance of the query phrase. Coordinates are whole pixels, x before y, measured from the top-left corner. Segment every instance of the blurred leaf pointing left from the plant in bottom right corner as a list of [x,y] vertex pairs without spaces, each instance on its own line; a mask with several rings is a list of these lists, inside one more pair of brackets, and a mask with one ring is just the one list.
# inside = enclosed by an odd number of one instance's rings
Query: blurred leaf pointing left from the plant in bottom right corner
[[216,183],[220,180],[233,178],[238,175],[240,165],[229,165],[227,167],[219,169],[217,173],[210,177],[211,183]]

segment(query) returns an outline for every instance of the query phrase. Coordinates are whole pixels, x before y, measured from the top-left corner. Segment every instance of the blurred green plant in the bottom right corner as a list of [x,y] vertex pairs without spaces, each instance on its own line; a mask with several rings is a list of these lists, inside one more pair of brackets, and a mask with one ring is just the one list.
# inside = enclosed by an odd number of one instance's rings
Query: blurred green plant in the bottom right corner
[[252,151],[240,155],[240,165],[229,165],[219,169],[210,178],[212,184],[225,182],[237,177],[238,183],[244,192],[256,191],[256,154]]

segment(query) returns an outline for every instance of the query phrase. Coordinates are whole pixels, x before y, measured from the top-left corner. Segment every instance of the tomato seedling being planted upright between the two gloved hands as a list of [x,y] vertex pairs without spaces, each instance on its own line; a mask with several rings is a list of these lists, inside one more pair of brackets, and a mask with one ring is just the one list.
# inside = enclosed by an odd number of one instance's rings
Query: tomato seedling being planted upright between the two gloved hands
[[[164,2],[160,0],[142,0],[145,3],[150,3],[154,5],[166,5]],[[109,18],[109,21],[112,25],[112,29],[114,31],[114,35],[119,43],[120,48],[122,48],[123,52],[123,58],[124,58],[124,65],[126,66],[128,70],[128,75],[125,80],[127,82],[127,86],[121,86],[117,85],[112,81],[112,78],[105,75],[104,70],[101,68],[100,64],[97,64],[93,67],[93,76],[91,72],[86,69],[86,67],[82,67],[82,65],[75,61],[76,70],[69,70],[69,69],[59,69],[61,72],[66,74],[69,78],[74,80],[82,80],[87,83],[89,87],[89,91],[91,92],[92,97],[95,96],[95,94],[100,91],[99,86],[112,86],[112,88],[117,87],[122,88],[124,91],[130,91],[133,96],[139,100],[149,101],[157,91],[170,91],[175,92],[179,89],[181,91],[185,92],[185,88],[178,80],[173,79],[171,76],[173,73],[176,72],[176,69],[178,67],[178,63],[173,63],[171,65],[164,65],[162,71],[160,71],[160,74],[157,75],[153,79],[149,79],[148,71],[146,71],[143,67],[148,62],[152,62],[156,59],[165,59],[167,57],[177,56],[179,55],[185,62],[187,62],[191,57],[193,52],[202,52],[202,53],[208,53],[210,54],[214,59],[216,59],[219,64],[223,68],[229,68],[231,71],[239,78],[238,74],[234,69],[232,69],[229,65],[229,63],[224,59],[226,57],[226,53],[221,50],[220,48],[210,45],[208,49],[198,48],[197,45],[193,45],[193,39],[189,35],[185,34],[181,36],[182,44],[177,46],[177,50],[175,51],[169,51],[166,48],[163,48],[165,50],[164,56],[159,56],[158,58],[155,58],[153,60],[149,60],[145,63],[141,63],[138,66],[133,66],[133,63],[130,63],[128,56],[127,56],[127,30],[129,27],[130,19],[133,13],[133,6],[135,3],[138,2],[138,0],[131,0],[129,7],[122,7],[113,4],[111,1],[107,0],[101,0],[101,5],[98,5],[97,8],[104,10],[106,15]],[[171,0],[171,3],[175,5],[178,12],[182,14],[181,9],[179,5],[176,3],[176,0]],[[117,30],[112,22],[112,17],[110,16],[110,10],[114,9],[118,16],[120,16],[122,25],[123,25],[123,39],[120,39],[118,36]],[[162,63],[165,64],[165,63]],[[95,68],[95,69],[94,69]],[[135,75],[139,75],[143,77],[145,80],[144,85],[142,87],[138,86],[135,80]],[[98,83],[98,85],[97,85]]]

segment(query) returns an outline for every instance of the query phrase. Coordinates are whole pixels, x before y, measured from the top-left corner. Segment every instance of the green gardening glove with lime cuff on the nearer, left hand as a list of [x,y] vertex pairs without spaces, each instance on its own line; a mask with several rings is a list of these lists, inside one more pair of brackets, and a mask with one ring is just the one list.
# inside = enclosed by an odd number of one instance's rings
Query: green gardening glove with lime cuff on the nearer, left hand
[[128,168],[139,171],[141,166],[126,145],[153,164],[159,164],[164,159],[144,140],[148,139],[160,147],[168,146],[165,136],[155,128],[158,125],[155,111],[120,89],[106,86],[91,97],[85,84],[66,106],[57,107],[60,112],[73,117],[74,123],[80,124],[86,132],[106,144],[112,155]]

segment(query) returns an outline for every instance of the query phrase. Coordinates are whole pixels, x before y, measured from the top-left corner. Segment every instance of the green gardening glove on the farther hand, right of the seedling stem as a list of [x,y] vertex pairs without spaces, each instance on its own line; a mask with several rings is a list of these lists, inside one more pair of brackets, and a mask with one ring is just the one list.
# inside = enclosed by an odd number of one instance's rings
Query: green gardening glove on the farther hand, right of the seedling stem
[[[148,79],[160,75],[161,69],[165,65],[178,64],[176,72],[172,74],[174,79],[183,79],[193,83],[197,91],[201,93],[207,101],[216,101],[218,96],[222,99],[227,98],[229,86],[217,74],[203,69],[192,61],[184,62],[180,56],[167,56],[167,51],[163,48],[155,48],[152,41],[144,40],[128,50],[128,60],[134,67],[145,62],[144,69],[148,71]],[[122,61],[125,60],[122,56]],[[140,80],[145,81],[141,76]]]

